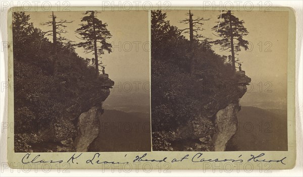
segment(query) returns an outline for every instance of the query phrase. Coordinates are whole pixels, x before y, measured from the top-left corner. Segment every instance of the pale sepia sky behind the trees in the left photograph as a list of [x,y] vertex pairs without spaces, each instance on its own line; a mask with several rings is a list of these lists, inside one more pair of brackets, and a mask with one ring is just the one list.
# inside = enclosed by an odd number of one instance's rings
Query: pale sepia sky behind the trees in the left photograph
[[[75,30],[80,27],[81,18],[85,11],[55,12],[57,21],[60,19],[74,21],[66,24],[68,33],[64,37],[72,41],[80,42],[80,37]],[[52,30],[52,27],[40,25],[51,20],[48,18],[52,12],[26,12],[30,15],[31,22],[42,31]],[[149,81],[149,32],[148,12],[146,11],[103,11],[97,14],[97,18],[108,24],[108,30],[113,35],[108,42],[113,44],[113,52],[102,55],[106,73],[110,79],[118,82],[146,82]],[[52,36],[51,36],[52,37]],[[121,45],[119,47],[119,42]],[[143,44],[145,46],[143,48]],[[115,45],[115,46],[114,46]],[[136,47],[137,46],[137,47]],[[94,57],[92,53],[85,54],[83,48],[77,48],[76,52],[87,58]]]

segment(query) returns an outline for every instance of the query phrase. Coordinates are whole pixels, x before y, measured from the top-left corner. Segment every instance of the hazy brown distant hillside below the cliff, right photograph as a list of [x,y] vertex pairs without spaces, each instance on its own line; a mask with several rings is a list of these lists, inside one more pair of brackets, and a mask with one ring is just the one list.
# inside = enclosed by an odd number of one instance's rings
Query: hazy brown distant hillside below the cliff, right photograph
[[243,106],[226,151],[287,151],[287,111]]

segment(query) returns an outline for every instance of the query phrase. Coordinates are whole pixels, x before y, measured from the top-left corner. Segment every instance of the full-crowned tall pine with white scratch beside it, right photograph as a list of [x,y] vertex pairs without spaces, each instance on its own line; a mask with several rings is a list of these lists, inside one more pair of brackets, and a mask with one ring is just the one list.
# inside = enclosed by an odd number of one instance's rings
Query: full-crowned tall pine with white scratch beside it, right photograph
[[[214,43],[220,44],[224,50],[231,52],[232,70],[235,73],[235,53],[241,51],[240,47],[248,49],[248,41],[243,39],[248,32],[243,26],[244,21],[235,17],[231,11],[219,15],[218,19],[220,19],[219,25],[214,26],[213,30],[216,30],[222,39],[215,40]],[[221,22],[221,19],[224,21]]]

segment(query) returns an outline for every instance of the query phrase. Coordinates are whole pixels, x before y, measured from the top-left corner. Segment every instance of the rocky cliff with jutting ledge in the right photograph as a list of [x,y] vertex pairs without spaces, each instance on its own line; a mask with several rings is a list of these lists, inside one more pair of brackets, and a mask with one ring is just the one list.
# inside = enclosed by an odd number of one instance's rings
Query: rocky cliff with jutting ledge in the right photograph
[[157,144],[154,149],[224,151],[228,140],[237,131],[239,99],[249,83],[249,77],[243,72],[236,72],[230,81],[212,83],[208,90],[204,87],[203,91],[210,94],[205,94],[205,99],[200,100],[200,113],[173,131],[153,132],[153,142]]

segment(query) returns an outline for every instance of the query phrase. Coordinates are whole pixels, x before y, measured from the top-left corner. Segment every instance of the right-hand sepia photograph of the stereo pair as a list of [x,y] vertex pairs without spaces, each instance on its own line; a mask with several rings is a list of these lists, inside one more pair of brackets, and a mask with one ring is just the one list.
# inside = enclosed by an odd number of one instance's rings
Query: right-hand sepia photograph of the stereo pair
[[151,11],[154,151],[287,151],[287,11]]

